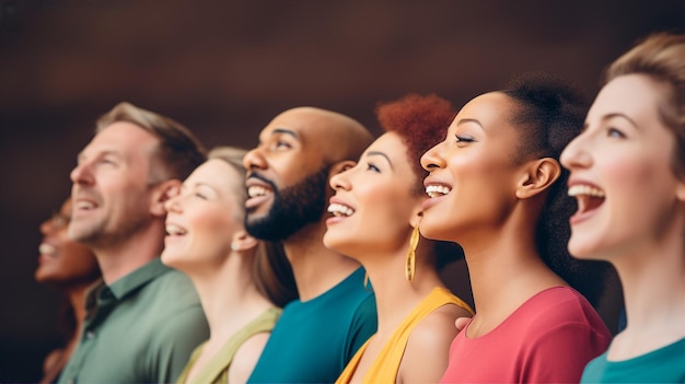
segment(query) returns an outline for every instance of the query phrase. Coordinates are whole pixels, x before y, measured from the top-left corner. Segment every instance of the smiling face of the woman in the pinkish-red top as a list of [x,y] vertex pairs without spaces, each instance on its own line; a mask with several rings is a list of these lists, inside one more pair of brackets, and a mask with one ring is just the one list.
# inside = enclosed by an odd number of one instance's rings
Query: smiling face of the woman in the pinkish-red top
[[516,201],[515,161],[520,140],[509,117],[515,102],[503,93],[480,95],[467,103],[449,127],[445,140],[421,158],[430,175],[430,199],[423,202],[421,234],[463,242],[503,224]]

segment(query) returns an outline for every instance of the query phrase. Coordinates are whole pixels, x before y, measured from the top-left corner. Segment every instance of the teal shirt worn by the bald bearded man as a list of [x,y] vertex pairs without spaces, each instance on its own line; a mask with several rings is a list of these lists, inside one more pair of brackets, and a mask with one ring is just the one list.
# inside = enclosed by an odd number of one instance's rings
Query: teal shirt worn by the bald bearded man
[[249,383],[333,383],[375,334],[373,292],[359,268],[325,293],[283,309]]

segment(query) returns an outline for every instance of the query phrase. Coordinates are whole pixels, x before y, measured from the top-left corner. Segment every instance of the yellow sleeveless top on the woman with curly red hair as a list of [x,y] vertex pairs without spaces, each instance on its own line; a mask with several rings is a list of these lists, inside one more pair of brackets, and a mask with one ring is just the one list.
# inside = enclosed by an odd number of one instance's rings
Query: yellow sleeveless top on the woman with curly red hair
[[[432,313],[437,309],[445,304],[458,305],[472,314],[474,311],[468,304],[455,296],[449,290],[436,287],[419,305],[404,319],[404,322],[395,329],[393,336],[387,340],[381,352],[375,358],[375,361],[369,369],[369,372],[364,375],[362,383],[379,384],[379,383],[395,383],[397,381],[397,370],[399,370],[399,363],[404,356],[405,348],[407,347],[407,340],[414,327],[419,324],[423,317]],[[340,374],[336,384],[349,383],[359,365],[359,360],[369,346],[369,340],[359,348],[352,360],[347,364],[345,371]]]

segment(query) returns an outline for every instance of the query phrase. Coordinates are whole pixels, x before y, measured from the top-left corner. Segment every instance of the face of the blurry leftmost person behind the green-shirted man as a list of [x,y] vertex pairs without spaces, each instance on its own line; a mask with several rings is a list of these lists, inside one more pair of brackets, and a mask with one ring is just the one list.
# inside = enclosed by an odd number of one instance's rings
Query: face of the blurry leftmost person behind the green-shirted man
[[40,224],[38,268],[35,278],[58,287],[82,284],[95,281],[100,268],[95,255],[85,245],[77,243],[67,235],[71,220],[71,199],[65,201],[59,212]]

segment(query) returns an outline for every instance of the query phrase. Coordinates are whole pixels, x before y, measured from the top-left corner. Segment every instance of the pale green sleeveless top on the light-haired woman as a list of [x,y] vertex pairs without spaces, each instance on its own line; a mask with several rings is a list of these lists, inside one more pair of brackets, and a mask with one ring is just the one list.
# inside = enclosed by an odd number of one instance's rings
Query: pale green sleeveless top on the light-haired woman
[[[260,333],[269,333],[274,329],[274,325],[276,321],[281,314],[281,310],[277,307],[266,310],[262,315],[257,318],[253,319],[249,324],[247,324],[243,329],[239,330],[233,335],[214,354],[207,365],[202,368],[202,370],[193,377],[194,384],[213,384],[213,383],[228,383],[229,382],[229,366],[231,366],[231,362],[233,361],[233,357],[237,349],[251,337],[260,334]],[[186,368],[181,372],[181,376],[176,383],[182,384],[185,383],[188,379],[188,373],[195,362],[202,353],[202,348],[206,342],[202,342],[199,347],[193,351],[190,356],[190,360],[186,364]]]

